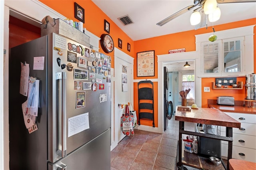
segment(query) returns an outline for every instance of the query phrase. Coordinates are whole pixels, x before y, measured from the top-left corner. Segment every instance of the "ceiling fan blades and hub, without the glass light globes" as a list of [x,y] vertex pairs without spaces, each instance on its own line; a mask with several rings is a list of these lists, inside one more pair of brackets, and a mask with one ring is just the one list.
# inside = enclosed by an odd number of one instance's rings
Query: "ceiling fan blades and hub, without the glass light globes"
[[[217,1],[218,4],[236,3],[236,2],[256,2],[256,0],[216,0],[216,1]],[[196,10],[199,10],[201,14],[205,15],[204,12],[203,12],[205,2],[206,2],[206,0],[194,0],[194,5],[190,5],[190,6],[187,6],[186,8],[183,8],[182,10],[179,10],[178,12],[176,12],[176,13],[172,14],[171,16],[168,16],[164,20],[158,22],[156,25],[163,26],[164,24],[170,22],[174,18],[177,18],[178,16],[192,10],[195,7],[198,7],[198,8],[196,8]]]

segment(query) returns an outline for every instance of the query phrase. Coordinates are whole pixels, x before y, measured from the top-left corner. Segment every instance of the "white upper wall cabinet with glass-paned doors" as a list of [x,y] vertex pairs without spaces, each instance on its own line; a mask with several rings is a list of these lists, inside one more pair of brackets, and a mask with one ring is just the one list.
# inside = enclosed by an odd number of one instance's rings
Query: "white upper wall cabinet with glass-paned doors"
[[[196,35],[196,50],[201,51],[201,77],[245,76],[254,71],[253,27],[247,26]],[[245,67],[246,66],[246,67]]]

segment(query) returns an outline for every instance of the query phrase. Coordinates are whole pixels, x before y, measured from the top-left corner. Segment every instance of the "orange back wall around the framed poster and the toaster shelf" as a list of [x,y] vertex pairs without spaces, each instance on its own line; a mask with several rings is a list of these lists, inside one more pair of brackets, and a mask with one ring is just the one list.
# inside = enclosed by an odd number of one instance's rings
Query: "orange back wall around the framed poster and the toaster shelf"
[[[216,32],[221,30],[227,30],[232,28],[238,28],[243,26],[250,26],[256,24],[256,18],[243,20],[239,22],[232,22],[228,24],[222,24],[214,26]],[[167,54],[169,49],[179,49],[179,48],[186,48],[186,51],[195,51],[196,50],[196,38],[195,35],[198,34],[205,34],[212,32],[212,27],[208,27],[208,29],[201,28],[198,30],[190,30],[186,32],[179,32],[176,34],[169,34],[165,36],[159,36],[154,38],[149,38],[145,40],[138,40],[134,42],[134,56],[136,53],[142,51],[150,51],[155,50],[155,76],[154,77],[143,77],[143,79],[157,79],[157,56]],[[254,61],[256,59],[256,27],[254,27]],[[254,62],[254,72],[256,73],[256,62]],[[137,77],[137,60],[136,57],[134,59],[134,79],[142,79],[141,77]],[[243,100],[245,90],[212,90],[210,92],[204,92],[203,87],[211,87],[212,83],[214,82],[214,78],[202,78],[202,107],[208,107],[207,99],[216,99],[219,95],[227,95],[227,96],[234,96],[235,100]],[[237,81],[243,81],[245,83],[244,78],[237,78]],[[138,113],[138,93],[135,91],[138,83],[134,83],[134,109]],[[158,100],[158,91],[157,88],[154,87],[154,101]],[[155,109],[155,119],[157,119],[157,111],[158,107],[154,107]],[[163,113],[160,113],[163,114]],[[145,123],[143,125],[151,126],[151,123]]]

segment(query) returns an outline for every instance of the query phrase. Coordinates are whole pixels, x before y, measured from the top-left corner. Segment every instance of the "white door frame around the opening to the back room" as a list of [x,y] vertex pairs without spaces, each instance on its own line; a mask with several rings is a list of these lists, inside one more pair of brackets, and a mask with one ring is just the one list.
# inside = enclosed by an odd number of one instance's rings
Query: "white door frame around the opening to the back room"
[[[164,54],[164,55],[157,55],[158,57],[158,113],[164,113],[164,67],[166,65],[176,65],[180,63],[179,67],[180,69],[183,68],[186,61],[190,63],[190,61],[194,63],[194,76],[195,76],[195,103],[197,103],[198,107],[201,107],[201,101],[202,101],[202,91],[201,91],[201,78],[200,78],[200,68],[196,68],[196,65],[200,66],[200,51],[190,51],[190,52],[183,52],[183,53],[172,53],[172,54]],[[178,60],[177,60],[178,59]],[[169,70],[168,70],[169,71]],[[178,85],[173,85],[172,87],[172,96],[174,97],[174,111],[175,107],[179,104],[176,102],[180,102],[181,99],[176,99],[176,96],[180,97],[179,92],[181,91],[182,87],[182,76],[181,73],[184,72],[179,69],[170,69],[169,72],[172,72],[172,78],[169,80],[172,82],[169,82],[170,84],[174,84],[173,82],[178,82]],[[178,72],[178,73],[175,73]],[[175,75],[175,74],[178,74]],[[178,89],[176,89],[178,88]],[[158,132],[163,133],[164,132],[164,114],[158,114]]]

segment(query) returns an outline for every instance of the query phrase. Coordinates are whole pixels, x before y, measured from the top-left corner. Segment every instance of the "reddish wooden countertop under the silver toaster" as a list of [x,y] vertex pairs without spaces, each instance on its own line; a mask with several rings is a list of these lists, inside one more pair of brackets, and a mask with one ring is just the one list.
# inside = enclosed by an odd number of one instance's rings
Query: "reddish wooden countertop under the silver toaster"
[[219,109],[223,112],[234,112],[234,113],[249,113],[249,114],[256,114],[256,108],[247,107],[247,106],[226,106],[226,105],[208,105],[210,108]]

